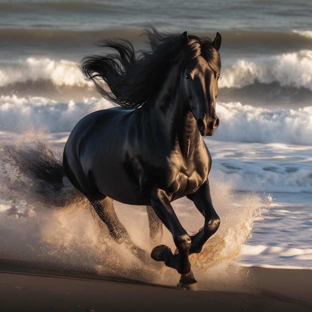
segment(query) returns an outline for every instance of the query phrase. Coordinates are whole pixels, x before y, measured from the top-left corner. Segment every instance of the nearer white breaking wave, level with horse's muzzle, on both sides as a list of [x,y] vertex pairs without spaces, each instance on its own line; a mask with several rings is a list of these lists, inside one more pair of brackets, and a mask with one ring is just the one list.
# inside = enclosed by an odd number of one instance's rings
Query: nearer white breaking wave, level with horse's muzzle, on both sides
[[[49,132],[69,132],[87,114],[112,107],[105,99],[57,102],[44,97],[0,96],[0,131],[18,132],[29,125]],[[312,145],[312,106],[267,109],[239,102],[217,103],[220,141]]]

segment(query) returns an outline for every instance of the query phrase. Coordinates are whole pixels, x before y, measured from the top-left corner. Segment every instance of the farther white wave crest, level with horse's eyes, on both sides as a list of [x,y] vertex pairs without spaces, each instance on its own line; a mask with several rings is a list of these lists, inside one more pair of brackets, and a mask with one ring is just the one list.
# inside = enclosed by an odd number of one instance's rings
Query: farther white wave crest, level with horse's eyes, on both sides
[[[219,88],[277,82],[281,86],[312,90],[311,73],[311,50],[234,60],[227,58],[222,63]],[[0,64],[0,87],[26,81],[50,81],[54,86],[92,86],[82,78],[78,64],[67,59],[28,57]]]

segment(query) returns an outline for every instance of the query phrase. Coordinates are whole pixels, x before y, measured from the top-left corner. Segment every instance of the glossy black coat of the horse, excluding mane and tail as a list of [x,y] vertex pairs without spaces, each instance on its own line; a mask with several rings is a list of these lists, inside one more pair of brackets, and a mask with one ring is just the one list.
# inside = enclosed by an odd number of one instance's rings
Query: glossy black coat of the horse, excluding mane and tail
[[[184,45],[191,41],[186,33],[183,41]],[[211,45],[218,50],[220,44],[217,34]],[[152,257],[181,273],[182,287],[195,282],[188,255],[200,252],[219,226],[207,179],[211,156],[202,139],[211,136],[219,124],[215,114],[218,77],[219,71],[200,54],[182,71],[175,62],[159,92],[141,108],[116,107],[84,117],[64,149],[68,178],[89,198],[117,240],[125,239],[126,231],[111,199],[153,207],[172,233],[178,253],[173,255],[160,245]],[[203,229],[192,237],[170,204],[182,196],[191,199],[205,217]],[[137,254],[143,252],[131,246]]]

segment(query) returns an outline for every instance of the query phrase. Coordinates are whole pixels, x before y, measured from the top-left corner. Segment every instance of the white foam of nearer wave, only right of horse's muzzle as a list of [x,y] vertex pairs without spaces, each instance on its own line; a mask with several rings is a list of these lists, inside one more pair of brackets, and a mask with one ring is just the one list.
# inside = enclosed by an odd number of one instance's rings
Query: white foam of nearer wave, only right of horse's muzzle
[[214,134],[217,140],[312,145],[312,106],[268,109],[217,103],[216,113],[221,121]]

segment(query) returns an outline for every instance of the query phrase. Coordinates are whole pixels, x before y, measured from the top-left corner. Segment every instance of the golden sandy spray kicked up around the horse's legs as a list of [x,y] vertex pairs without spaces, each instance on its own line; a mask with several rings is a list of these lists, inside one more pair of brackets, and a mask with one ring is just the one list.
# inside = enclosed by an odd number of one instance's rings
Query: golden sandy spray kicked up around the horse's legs
[[[46,144],[44,135],[40,134],[1,136],[0,258],[104,278],[163,285],[177,283],[179,275],[173,269],[149,258],[155,246],[149,239],[145,207],[116,203],[117,214],[131,238],[147,251],[148,257],[140,260],[126,246],[113,241],[91,205],[66,177],[59,188],[29,175],[25,166],[32,157],[58,157],[57,148]],[[220,228],[200,254],[190,256],[201,289],[235,287],[244,278],[241,270],[234,269],[233,260],[239,256],[265,206],[261,195],[234,193],[233,182],[220,181],[217,176],[218,172],[212,171],[210,185],[221,218]],[[203,226],[203,217],[189,200],[179,199],[172,205],[189,234]],[[175,249],[166,229],[161,243]]]

